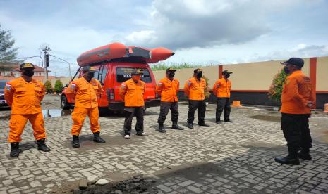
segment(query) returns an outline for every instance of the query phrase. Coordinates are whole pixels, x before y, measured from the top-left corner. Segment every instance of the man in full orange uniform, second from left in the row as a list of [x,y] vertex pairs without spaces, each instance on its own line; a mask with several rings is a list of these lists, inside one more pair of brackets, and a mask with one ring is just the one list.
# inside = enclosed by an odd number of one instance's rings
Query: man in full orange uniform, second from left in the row
[[80,147],[79,135],[86,116],[90,119],[93,141],[105,143],[104,139],[100,137],[97,102],[97,93],[102,93],[104,90],[100,82],[97,79],[93,79],[94,76],[94,67],[83,67],[83,77],[71,82],[67,88],[67,93],[73,93],[75,95],[75,108],[72,112],[73,127],[71,129],[73,148]]

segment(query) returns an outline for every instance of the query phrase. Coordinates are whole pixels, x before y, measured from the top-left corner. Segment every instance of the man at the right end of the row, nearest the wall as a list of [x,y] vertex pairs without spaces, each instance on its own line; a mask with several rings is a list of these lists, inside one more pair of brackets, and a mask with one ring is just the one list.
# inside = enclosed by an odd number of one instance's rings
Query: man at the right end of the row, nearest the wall
[[223,78],[218,79],[213,86],[213,93],[217,96],[217,112],[215,116],[215,122],[221,123],[221,114],[224,111],[224,122],[232,122],[230,119],[231,102],[230,102],[230,91],[231,81],[228,79],[232,72],[227,70],[222,72]]

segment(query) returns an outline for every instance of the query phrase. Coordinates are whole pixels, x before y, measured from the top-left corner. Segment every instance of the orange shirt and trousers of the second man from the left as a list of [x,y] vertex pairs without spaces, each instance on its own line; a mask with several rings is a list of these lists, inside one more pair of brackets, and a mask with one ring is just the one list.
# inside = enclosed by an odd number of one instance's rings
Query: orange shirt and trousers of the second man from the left
[[71,82],[66,91],[67,93],[75,94],[75,108],[72,113],[73,127],[71,129],[71,134],[80,134],[87,115],[90,119],[92,133],[99,132],[100,125],[97,94],[104,91],[100,82],[97,79],[91,79],[90,82],[87,82],[84,77],[80,77]]

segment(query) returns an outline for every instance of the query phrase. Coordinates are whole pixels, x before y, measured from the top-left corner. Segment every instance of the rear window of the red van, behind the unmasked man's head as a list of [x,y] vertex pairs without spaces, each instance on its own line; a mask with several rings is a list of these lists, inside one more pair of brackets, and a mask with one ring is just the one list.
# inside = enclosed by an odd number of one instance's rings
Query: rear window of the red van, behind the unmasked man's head
[[126,80],[130,79],[131,72],[135,69],[142,70],[143,75],[141,75],[141,80],[145,83],[151,83],[152,77],[150,77],[150,72],[147,68],[138,68],[138,67],[117,67],[116,68],[116,82],[122,83],[126,82]]

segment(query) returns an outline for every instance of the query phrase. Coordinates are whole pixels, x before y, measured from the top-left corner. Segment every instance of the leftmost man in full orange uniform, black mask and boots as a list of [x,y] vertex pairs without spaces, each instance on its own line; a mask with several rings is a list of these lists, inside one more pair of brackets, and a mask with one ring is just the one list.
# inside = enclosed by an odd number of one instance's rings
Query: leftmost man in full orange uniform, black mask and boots
[[22,140],[20,136],[28,120],[32,124],[33,134],[37,140],[37,149],[43,152],[50,151],[45,144],[46,131],[40,105],[45,89],[42,82],[32,79],[34,69],[32,63],[21,64],[22,77],[6,84],[4,98],[11,107],[8,137],[11,143],[11,157],[19,156],[19,142]]

